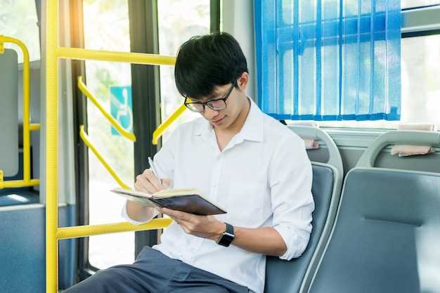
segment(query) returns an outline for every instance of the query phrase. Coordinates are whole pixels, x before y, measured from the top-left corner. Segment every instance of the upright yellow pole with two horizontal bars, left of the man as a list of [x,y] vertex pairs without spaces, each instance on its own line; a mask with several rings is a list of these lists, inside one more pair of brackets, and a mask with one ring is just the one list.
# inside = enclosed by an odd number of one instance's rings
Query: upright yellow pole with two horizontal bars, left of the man
[[[58,58],[174,65],[176,58],[142,53],[93,51],[58,46],[58,0],[46,1],[46,293],[58,292],[58,240],[129,230],[166,228],[171,219],[141,226],[114,223],[58,228]],[[84,129],[82,131],[85,134]],[[86,136],[84,136],[86,138]],[[84,139],[83,138],[83,139]],[[93,151],[93,149],[92,149]]]

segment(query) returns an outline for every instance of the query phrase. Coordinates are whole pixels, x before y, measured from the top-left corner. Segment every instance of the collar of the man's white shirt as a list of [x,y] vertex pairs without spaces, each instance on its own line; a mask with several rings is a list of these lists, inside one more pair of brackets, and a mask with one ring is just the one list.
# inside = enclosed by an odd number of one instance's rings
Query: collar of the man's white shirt
[[[249,97],[250,110],[246,117],[245,124],[243,124],[240,132],[235,136],[237,140],[243,141],[263,141],[263,113],[258,108],[257,104]],[[200,122],[195,125],[193,134],[196,136],[206,136],[213,131],[212,125],[206,119],[200,119]]]

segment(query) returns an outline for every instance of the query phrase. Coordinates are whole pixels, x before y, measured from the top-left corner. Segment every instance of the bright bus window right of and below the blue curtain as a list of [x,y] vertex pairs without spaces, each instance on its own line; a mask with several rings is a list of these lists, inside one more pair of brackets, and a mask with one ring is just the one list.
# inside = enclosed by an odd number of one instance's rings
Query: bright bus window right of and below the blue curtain
[[[400,123],[434,123],[440,127],[440,31],[430,18],[440,0],[402,0],[401,119],[399,121],[324,121],[319,126],[355,129],[397,129]],[[431,7],[432,6],[432,7]],[[287,121],[288,124],[295,123]]]

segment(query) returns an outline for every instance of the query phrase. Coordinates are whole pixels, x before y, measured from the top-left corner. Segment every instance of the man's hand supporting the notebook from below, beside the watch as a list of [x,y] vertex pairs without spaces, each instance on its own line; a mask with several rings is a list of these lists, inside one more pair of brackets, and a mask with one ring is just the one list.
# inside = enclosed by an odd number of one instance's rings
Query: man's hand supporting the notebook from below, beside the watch
[[176,221],[190,235],[215,241],[226,230],[225,223],[215,219],[214,216],[198,216],[167,208],[157,208],[157,210]]

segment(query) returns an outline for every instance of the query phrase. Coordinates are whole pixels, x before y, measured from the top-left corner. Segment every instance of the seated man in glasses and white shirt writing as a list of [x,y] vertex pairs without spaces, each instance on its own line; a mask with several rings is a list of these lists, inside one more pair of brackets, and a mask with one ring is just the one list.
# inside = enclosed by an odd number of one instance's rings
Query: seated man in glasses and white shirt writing
[[[301,138],[246,96],[247,63],[226,33],[193,37],[179,50],[176,86],[201,118],[179,126],[155,155],[136,190],[198,188],[227,214],[197,216],[158,209],[174,222],[160,245],[132,265],[99,271],[73,292],[264,291],[266,255],[292,259],[311,233],[311,163]],[[127,202],[132,223],[152,208]]]

